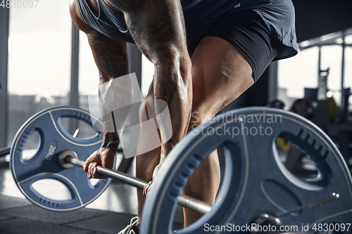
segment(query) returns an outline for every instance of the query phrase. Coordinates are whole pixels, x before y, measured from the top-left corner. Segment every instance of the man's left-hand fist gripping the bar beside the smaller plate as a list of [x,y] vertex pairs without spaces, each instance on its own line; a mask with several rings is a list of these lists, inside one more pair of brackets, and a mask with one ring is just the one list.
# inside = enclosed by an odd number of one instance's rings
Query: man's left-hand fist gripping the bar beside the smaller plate
[[83,165],[83,169],[87,172],[88,178],[107,178],[96,172],[96,166],[101,165],[108,169],[113,169],[115,160],[115,152],[109,149],[100,148],[90,155]]

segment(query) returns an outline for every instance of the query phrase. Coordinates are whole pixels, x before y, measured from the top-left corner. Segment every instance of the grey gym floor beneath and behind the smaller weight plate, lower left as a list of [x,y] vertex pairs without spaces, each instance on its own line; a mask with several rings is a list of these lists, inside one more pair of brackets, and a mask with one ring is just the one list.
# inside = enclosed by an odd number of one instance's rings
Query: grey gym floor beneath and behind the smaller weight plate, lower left
[[[118,161],[121,157],[118,155]],[[134,165],[129,174],[135,175]],[[111,183],[100,197],[83,209],[51,212],[25,199],[7,163],[0,162],[0,178],[0,234],[115,234],[137,214],[137,189],[122,183]],[[57,190],[48,193],[58,195]],[[182,219],[182,209],[177,207],[175,229],[182,228]]]

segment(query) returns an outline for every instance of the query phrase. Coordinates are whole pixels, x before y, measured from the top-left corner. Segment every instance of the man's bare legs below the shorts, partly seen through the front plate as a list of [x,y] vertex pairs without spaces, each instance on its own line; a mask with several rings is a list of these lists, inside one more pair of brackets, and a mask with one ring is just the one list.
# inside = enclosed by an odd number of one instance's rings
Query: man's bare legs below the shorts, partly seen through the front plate
[[[193,108],[188,132],[211,119],[253,84],[249,63],[231,44],[218,37],[202,39],[191,60]],[[153,98],[151,93],[149,98]],[[141,110],[144,110],[144,107]],[[160,148],[138,156],[137,176],[149,181],[159,159]],[[187,186],[184,187],[184,194],[213,204],[219,183],[220,167],[215,150],[201,162],[189,178]],[[138,196],[141,214],[144,196],[140,191]],[[184,209],[184,226],[189,226],[200,217],[201,214]]]

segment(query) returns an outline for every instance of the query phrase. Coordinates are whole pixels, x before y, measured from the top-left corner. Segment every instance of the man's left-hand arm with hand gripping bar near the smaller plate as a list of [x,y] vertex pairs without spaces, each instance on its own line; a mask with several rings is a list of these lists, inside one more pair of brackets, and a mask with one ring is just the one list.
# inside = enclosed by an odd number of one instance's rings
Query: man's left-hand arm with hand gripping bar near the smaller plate
[[[99,69],[99,84],[128,74],[127,43],[110,39],[89,27],[80,18],[75,1],[70,2],[70,13],[75,25],[87,34],[96,66]],[[118,106],[118,100],[116,101],[116,106]],[[103,167],[111,168],[119,143],[120,139],[117,132],[104,133],[101,149],[94,152],[84,165],[84,171],[88,172],[89,178],[103,178],[103,176],[98,176],[93,169],[89,170],[89,164],[96,162]]]

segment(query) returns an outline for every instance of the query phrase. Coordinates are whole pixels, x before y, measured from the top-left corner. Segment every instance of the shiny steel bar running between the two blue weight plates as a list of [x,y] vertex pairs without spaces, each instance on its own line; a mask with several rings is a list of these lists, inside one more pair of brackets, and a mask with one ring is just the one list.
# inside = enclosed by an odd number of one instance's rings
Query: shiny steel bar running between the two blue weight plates
[[[77,157],[73,157],[72,155],[75,155],[75,152],[70,150],[64,151],[61,153],[61,157],[59,157],[61,159],[63,158],[63,160],[60,161],[75,165],[76,167],[83,167],[84,160],[79,160]],[[109,178],[115,179],[116,181],[120,181],[140,190],[143,190],[144,186],[148,184],[147,181],[144,181],[141,178],[130,176],[129,174],[125,174],[121,171],[114,171],[101,166],[97,166],[96,171],[102,176],[108,176]],[[187,195],[180,195],[177,198],[177,204],[199,214],[206,214],[211,209],[210,204]]]

